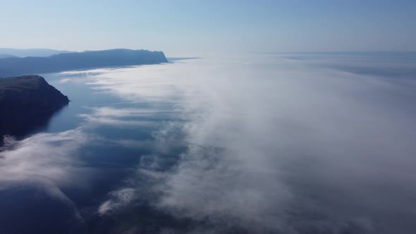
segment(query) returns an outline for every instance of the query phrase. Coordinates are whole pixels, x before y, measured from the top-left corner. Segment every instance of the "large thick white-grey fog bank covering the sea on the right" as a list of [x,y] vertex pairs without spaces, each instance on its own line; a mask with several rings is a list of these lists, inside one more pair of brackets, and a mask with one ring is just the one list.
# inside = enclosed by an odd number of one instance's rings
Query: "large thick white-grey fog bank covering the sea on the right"
[[[167,171],[139,166],[100,214],[146,197],[154,209],[202,223],[197,233],[410,230],[416,84],[408,73],[346,69],[363,59],[373,70],[403,67],[395,57],[251,56],[96,76],[92,84],[120,97],[173,103],[186,147]],[[152,186],[140,187],[143,180]]]

